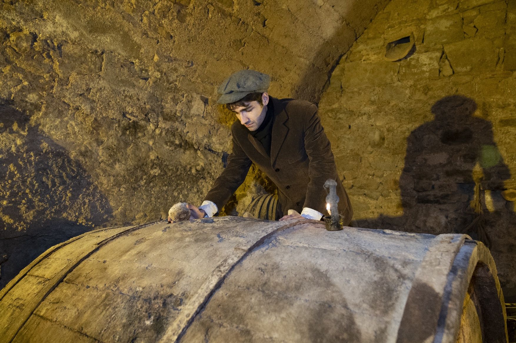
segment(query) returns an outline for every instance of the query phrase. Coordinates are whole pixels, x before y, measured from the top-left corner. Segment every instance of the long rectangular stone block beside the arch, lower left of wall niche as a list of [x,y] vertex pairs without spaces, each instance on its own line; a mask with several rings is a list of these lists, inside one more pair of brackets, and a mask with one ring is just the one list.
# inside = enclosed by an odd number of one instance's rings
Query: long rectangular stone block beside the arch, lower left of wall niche
[[348,62],[344,68],[342,85],[346,89],[378,86],[398,80],[399,64],[396,62]]

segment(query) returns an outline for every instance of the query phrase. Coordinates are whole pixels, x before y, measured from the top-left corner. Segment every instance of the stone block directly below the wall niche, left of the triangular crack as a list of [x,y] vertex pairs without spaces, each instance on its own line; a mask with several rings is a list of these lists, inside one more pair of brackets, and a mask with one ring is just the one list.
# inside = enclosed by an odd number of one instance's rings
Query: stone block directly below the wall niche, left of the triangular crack
[[438,79],[441,51],[416,53],[400,62],[399,80]]

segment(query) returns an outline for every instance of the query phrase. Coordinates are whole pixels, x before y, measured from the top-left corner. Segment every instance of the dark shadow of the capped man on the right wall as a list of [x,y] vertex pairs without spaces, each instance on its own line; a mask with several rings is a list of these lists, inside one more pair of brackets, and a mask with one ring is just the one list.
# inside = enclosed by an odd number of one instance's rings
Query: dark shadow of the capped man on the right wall
[[[434,120],[407,139],[399,179],[403,215],[361,219],[355,225],[467,233],[489,247],[496,244],[498,225],[514,217],[513,203],[501,196],[511,175],[494,142],[491,123],[473,116],[476,109],[473,99],[461,95],[437,101],[431,108]],[[495,186],[485,189],[489,185]]]

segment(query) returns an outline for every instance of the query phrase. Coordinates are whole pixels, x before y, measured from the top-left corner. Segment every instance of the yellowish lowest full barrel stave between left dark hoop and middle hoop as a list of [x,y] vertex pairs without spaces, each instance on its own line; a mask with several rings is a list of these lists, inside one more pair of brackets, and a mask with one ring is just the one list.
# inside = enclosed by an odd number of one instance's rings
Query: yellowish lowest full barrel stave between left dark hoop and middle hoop
[[[166,291],[154,297],[124,294],[116,288],[62,282],[35,315],[103,342],[155,341],[180,300]],[[128,340],[128,338],[130,338]]]

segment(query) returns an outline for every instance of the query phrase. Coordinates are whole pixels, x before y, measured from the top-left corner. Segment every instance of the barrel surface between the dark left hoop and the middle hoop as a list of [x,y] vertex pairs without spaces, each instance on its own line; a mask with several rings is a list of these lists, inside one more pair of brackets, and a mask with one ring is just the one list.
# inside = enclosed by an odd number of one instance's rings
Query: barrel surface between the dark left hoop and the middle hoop
[[[103,342],[156,341],[211,273],[284,224],[162,223],[105,243],[71,270],[36,316]],[[181,242],[172,244],[171,242]]]

